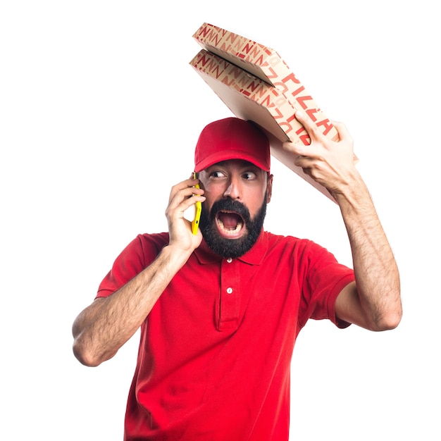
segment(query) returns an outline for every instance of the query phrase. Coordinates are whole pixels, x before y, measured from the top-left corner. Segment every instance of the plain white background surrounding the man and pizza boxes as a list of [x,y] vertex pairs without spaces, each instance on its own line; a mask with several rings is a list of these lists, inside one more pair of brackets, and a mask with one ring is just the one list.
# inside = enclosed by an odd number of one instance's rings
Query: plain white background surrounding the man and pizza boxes
[[[0,3],[3,440],[122,440],[137,335],[86,368],[70,328],[116,255],[166,230],[201,128],[230,111],[188,65],[209,22],[276,49],[346,123],[402,276],[399,328],[310,322],[292,440],[440,440],[436,2]],[[337,206],[273,161],[266,229],[352,265]]]

